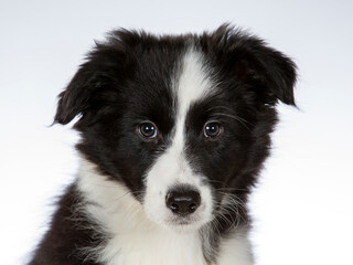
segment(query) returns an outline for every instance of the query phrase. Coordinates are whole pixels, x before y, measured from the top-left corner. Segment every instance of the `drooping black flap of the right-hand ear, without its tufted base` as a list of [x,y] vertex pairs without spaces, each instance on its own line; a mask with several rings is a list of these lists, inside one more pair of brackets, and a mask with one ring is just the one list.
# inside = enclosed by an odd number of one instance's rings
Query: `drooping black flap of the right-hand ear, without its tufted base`
[[264,45],[260,40],[252,38],[244,45],[233,51],[237,78],[249,83],[269,104],[280,100],[296,106],[296,64],[282,53]]

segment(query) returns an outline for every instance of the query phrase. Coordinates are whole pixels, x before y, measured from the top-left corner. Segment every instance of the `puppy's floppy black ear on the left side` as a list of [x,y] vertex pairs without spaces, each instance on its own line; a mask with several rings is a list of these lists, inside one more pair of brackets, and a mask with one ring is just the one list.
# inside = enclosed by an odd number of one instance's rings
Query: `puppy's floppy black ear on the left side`
[[[113,44],[97,44],[88,54],[87,62],[81,65],[66,89],[58,95],[54,123],[66,125],[79,115],[95,116],[105,104],[116,99],[125,53],[117,42]],[[114,93],[109,93],[111,91]]]

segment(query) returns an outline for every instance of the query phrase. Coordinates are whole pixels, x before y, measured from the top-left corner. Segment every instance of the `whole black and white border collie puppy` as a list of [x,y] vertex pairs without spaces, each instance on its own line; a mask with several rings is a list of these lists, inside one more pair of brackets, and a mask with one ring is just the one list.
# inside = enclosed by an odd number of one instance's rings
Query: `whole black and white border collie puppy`
[[117,30],[64,92],[81,168],[31,265],[254,264],[246,202],[296,66],[227,24]]

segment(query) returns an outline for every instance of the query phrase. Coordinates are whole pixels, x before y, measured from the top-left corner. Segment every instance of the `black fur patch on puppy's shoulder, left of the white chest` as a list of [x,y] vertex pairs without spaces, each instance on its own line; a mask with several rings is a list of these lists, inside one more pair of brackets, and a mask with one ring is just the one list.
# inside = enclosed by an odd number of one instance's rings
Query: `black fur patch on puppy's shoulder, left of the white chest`
[[[99,227],[81,211],[82,199],[76,186],[67,188],[58,201],[60,208],[53,216],[52,229],[46,233],[31,265],[94,265],[84,255],[85,250],[96,247],[104,237],[97,235]],[[84,261],[84,262],[83,262]]]

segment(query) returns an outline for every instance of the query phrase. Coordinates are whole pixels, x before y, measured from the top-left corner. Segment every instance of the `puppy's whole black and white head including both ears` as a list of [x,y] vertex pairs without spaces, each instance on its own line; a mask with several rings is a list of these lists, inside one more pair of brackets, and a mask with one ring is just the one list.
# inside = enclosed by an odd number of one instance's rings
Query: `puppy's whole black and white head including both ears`
[[60,95],[55,121],[77,149],[169,227],[246,220],[240,205],[269,150],[278,100],[295,105],[293,63],[223,25],[202,35],[119,30]]

